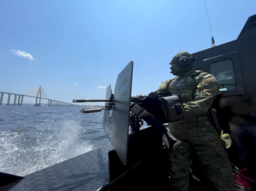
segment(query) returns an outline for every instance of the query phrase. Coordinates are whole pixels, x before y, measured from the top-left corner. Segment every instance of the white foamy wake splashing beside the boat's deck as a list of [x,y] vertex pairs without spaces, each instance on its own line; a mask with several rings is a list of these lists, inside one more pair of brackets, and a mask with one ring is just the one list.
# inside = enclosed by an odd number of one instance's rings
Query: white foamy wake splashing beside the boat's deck
[[73,119],[43,121],[33,130],[0,131],[0,171],[19,176],[46,168],[93,149]]

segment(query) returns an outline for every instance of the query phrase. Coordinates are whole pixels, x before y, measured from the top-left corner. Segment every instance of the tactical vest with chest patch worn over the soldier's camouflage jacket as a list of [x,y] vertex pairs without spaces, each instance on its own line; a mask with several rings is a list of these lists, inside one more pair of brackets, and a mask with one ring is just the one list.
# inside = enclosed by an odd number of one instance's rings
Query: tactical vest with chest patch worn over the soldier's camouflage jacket
[[171,92],[172,95],[177,95],[182,103],[192,101],[197,90],[196,75],[201,72],[203,71],[195,70],[184,77],[176,76],[168,85],[168,92]]

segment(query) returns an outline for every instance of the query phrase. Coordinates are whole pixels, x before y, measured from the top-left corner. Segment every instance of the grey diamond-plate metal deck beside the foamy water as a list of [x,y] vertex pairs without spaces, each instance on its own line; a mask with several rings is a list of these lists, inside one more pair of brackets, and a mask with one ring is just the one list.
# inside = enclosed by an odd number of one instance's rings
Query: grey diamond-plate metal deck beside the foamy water
[[105,145],[25,176],[25,190],[100,190],[109,184],[108,152]]

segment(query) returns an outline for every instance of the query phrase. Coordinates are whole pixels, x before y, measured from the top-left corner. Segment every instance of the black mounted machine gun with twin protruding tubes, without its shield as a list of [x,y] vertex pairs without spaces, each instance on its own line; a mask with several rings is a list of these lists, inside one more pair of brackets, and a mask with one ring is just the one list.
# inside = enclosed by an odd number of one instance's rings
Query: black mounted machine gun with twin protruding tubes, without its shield
[[[137,95],[136,97],[131,97],[131,106],[136,105],[139,109],[144,109],[145,112],[149,112],[151,118],[156,118],[161,123],[169,123],[176,121],[185,116],[180,99],[177,96],[172,96],[170,93],[157,93],[151,92],[148,95]],[[83,114],[100,112],[102,110],[112,110],[114,104],[114,94],[111,94],[109,99],[104,100],[73,100],[73,103],[81,102],[108,102],[103,108],[94,109],[81,109]],[[133,108],[132,107],[132,108]],[[139,128],[143,125],[143,117],[139,117],[138,111],[130,111],[130,127],[131,133],[139,131]],[[148,125],[152,125],[149,121],[152,119],[145,119]]]

